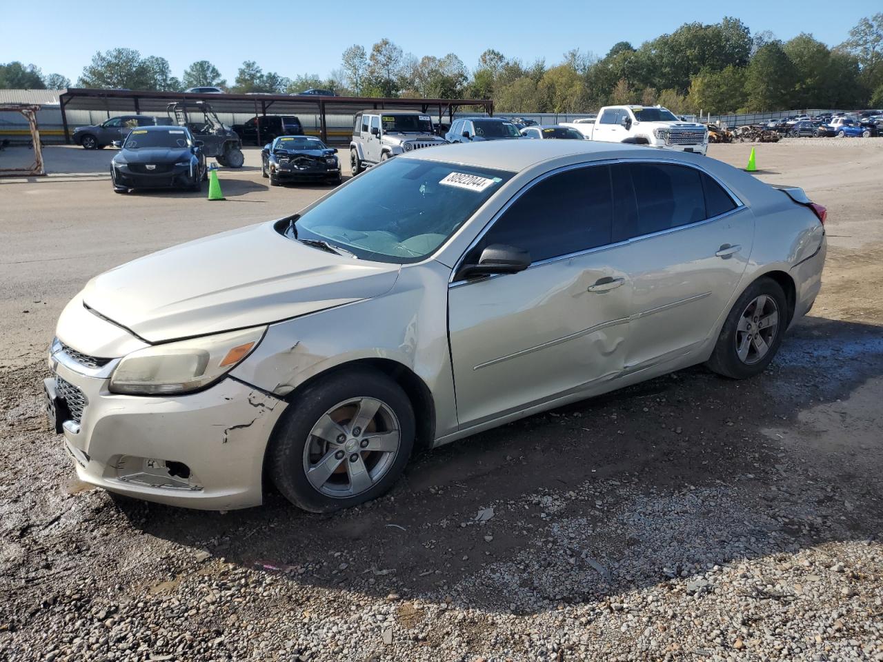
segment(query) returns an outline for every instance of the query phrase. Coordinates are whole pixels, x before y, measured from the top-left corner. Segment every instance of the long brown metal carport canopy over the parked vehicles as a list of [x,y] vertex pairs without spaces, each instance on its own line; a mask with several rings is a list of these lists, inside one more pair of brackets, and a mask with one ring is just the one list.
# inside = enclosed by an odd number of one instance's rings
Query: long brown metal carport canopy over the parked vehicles
[[322,140],[328,140],[326,115],[351,113],[364,109],[419,110],[426,114],[438,111],[441,122],[447,111],[449,119],[461,106],[478,106],[494,114],[494,102],[489,99],[398,99],[389,97],[319,96],[313,94],[186,94],[183,92],[153,92],[147,90],[110,90],[69,87],[60,94],[64,140],[71,142],[65,110],[106,110],[140,114],[165,113],[170,102],[204,101],[219,113],[252,113],[253,115],[295,115],[298,112],[317,113],[320,118]]

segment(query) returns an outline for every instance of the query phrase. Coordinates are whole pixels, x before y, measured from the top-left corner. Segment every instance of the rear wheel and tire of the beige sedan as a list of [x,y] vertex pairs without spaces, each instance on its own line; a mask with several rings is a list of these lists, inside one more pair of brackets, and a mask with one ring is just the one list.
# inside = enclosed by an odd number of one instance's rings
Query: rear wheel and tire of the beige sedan
[[734,380],[764,372],[788,327],[788,300],[772,278],[759,278],[738,298],[707,366]]

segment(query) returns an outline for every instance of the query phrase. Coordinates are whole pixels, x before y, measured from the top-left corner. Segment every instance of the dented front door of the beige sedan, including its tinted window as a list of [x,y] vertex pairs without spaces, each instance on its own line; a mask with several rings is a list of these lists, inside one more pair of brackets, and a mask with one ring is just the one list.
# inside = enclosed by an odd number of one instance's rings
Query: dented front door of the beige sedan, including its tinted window
[[612,378],[626,356],[631,282],[608,246],[607,165],[567,169],[511,202],[464,258],[508,244],[519,274],[452,282],[449,337],[461,428]]

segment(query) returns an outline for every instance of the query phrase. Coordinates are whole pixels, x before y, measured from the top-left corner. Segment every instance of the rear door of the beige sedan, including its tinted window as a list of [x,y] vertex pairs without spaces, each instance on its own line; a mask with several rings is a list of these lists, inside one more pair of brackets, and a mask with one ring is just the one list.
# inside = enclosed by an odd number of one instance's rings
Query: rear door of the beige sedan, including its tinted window
[[633,283],[625,371],[683,357],[713,333],[751,256],[751,210],[705,171],[672,162],[612,166],[614,241]]

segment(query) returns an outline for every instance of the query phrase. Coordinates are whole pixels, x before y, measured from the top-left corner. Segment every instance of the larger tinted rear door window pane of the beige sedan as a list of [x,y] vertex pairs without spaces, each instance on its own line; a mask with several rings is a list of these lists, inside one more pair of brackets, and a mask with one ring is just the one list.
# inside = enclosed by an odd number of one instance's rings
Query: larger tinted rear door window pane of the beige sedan
[[706,219],[699,171],[670,163],[630,163],[638,202],[636,236]]

